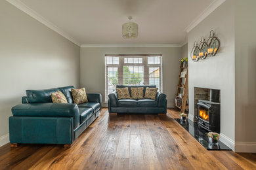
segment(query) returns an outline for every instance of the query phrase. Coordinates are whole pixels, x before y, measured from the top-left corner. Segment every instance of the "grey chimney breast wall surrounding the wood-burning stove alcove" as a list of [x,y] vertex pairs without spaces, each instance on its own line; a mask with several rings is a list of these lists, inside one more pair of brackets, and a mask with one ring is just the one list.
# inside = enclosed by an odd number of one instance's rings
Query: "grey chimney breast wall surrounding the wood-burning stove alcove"
[[[221,48],[215,57],[198,62],[188,59],[189,114],[194,116],[194,87],[221,90],[221,133],[233,143],[235,139],[235,85],[234,85],[234,3],[226,0],[207,18],[188,33],[188,54],[193,42],[209,37],[213,29],[221,41]],[[222,139],[221,139],[222,140]],[[234,146],[233,146],[234,147]],[[234,149],[234,148],[233,148]]]

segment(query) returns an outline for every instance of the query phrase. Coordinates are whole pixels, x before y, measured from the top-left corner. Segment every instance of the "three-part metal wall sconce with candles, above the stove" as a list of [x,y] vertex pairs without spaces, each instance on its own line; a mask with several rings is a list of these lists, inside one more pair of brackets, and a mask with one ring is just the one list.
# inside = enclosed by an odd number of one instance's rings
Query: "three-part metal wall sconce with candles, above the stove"
[[215,37],[215,32],[211,30],[210,37],[207,42],[205,42],[204,37],[201,37],[199,46],[198,42],[194,42],[194,47],[192,48],[190,57],[193,61],[198,61],[199,59],[205,59],[207,56],[215,56],[219,50],[219,45],[219,39]]

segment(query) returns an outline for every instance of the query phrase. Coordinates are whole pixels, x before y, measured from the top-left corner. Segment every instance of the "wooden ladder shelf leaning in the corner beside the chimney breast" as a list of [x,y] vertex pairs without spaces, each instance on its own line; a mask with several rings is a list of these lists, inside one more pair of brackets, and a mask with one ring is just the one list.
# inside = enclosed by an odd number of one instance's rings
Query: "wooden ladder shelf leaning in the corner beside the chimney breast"
[[[179,74],[179,84],[177,86],[177,94],[175,98],[175,107],[181,112],[185,112],[185,109],[188,109],[188,66],[183,67],[181,62],[180,74]],[[181,105],[177,105],[181,100]]]

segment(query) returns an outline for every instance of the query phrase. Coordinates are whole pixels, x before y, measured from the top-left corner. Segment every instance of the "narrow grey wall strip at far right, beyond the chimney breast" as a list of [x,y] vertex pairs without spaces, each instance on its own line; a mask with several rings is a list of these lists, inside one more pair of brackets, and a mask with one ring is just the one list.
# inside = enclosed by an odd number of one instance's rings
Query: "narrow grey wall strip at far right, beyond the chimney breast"
[[256,152],[255,7],[255,0],[236,0],[236,152]]

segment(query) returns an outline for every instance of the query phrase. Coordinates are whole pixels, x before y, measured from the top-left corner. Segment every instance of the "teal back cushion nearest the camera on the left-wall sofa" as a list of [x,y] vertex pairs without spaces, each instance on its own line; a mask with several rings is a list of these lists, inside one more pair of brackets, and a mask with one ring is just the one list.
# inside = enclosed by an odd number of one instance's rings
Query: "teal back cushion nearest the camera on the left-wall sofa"
[[26,90],[29,103],[53,103],[52,93],[58,91],[58,88],[50,88],[45,90]]

